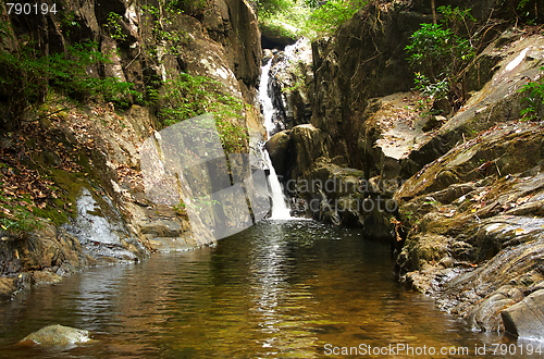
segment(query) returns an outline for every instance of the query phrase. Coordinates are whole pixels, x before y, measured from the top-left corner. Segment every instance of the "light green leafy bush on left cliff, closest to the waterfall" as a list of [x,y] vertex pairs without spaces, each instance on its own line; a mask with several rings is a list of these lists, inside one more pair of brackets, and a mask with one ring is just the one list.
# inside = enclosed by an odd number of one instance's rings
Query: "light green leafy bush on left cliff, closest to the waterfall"
[[240,152],[246,148],[248,134],[243,120],[242,100],[224,95],[217,81],[186,73],[162,83],[162,95],[153,92],[158,101],[159,119],[165,126],[203,114],[213,113],[221,143],[226,152]]

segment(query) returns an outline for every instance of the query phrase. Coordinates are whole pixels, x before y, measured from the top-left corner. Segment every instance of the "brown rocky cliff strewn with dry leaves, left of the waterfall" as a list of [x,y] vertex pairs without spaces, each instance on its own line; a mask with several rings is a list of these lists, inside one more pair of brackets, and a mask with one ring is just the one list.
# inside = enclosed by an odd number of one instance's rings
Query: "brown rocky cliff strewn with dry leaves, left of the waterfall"
[[[51,90],[35,99],[37,104],[28,102],[25,111],[16,112],[15,91],[2,90],[4,298],[97,261],[140,260],[156,250],[213,244],[206,227],[191,227],[182,207],[153,203],[145,194],[138,148],[165,126],[161,110],[172,95],[164,84],[178,78],[217,84],[214,98],[242,103],[221,125],[262,138],[256,91],[260,34],[247,1],[94,0],[55,5],[54,12],[24,15],[8,14],[2,4],[2,60],[26,59],[22,51],[28,44],[40,53],[37,59],[96,44],[108,61],[87,66],[86,76],[132,84],[134,91],[122,102],[94,98],[72,106],[74,99],[55,94],[50,84]],[[182,85],[185,92],[178,96],[194,96],[190,83]],[[238,146],[237,140],[230,144]],[[238,143],[247,152],[248,143],[243,137]],[[21,206],[25,198],[34,203]],[[24,234],[7,226],[17,215],[44,220]]]

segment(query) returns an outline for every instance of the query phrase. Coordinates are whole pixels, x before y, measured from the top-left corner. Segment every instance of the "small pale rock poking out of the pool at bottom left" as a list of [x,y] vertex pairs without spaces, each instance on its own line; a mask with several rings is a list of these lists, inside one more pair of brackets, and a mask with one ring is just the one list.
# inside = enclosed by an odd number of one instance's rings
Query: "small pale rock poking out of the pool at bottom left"
[[44,346],[71,346],[91,341],[89,332],[60,324],[49,325],[25,336],[18,344],[24,345],[34,342]]

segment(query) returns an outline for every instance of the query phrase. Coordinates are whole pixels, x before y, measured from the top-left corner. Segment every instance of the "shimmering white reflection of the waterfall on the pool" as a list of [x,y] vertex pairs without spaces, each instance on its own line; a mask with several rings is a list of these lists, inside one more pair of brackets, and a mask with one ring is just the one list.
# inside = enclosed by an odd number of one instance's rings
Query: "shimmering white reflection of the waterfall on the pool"
[[251,313],[257,318],[259,355],[311,358],[318,338],[307,325],[317,314],[307,308],[313,300],[310,287],[293,283],[296,263],[293,246],[297,222],[264,222],[267,238],[255,240],[251,251]]

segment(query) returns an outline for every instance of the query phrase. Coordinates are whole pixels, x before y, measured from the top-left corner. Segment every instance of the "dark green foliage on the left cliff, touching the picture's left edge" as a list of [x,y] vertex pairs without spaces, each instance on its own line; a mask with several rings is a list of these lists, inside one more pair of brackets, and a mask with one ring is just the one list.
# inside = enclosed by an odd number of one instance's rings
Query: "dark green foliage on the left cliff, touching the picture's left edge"
[[[0,127],[17,127],[33,106],[44,102],[50,89],[76,101],[103,99],[126,104],[133,84],[118,78],[100,78],[98,67],[110,63],[110,55],[98,51],[96,42],[76,44],[66,53],[42,55],[32,42],[21,45],[16,53],[0,51],[0,92],[8,97],[11,121]],[[95,69],[95,73],[88,72]]]

